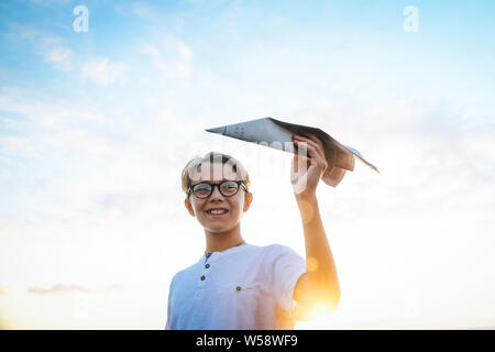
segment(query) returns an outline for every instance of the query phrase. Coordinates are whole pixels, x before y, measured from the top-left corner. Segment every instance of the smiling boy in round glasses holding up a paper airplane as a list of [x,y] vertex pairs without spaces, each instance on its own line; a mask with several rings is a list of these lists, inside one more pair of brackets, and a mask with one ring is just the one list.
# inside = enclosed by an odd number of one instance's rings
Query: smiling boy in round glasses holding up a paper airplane
[[165,329],[294,329],[315,307],[337,309],[339,280],[316,199],[328,167],[323,145],[310,134],[295,135],[294,144],[309,154],[296,153],[290,170],[306,261],[280,244],[245,243],[241,218],[253,195],[239,161],[217,153],[191,160],[183,170],[185,206],[205,229],[206,252],[174,275]]

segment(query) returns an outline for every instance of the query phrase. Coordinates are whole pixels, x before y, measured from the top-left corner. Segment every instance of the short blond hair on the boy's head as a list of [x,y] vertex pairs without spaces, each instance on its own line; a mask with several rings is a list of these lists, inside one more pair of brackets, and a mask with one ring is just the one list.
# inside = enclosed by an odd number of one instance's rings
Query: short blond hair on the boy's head
[[182,173],[182,186],[184,193],[187,195],[188,189],[190,187],[191,182],[191,175],[193,173],[197,172],[198,168],[201,167],[204,163],[222,163],[222,165],[229,164],[232,166],[232,169],[234,170],[235,175],[238,176],[239,180],[244,182],[245,187],[249,189],[251,185],[250,175],[248,174],[244,166],[233,156],[217,153],[217,152],[209,152],[204,157],[196,156],[191,158],[189,162],[187,162],[186,166],[183,169]]

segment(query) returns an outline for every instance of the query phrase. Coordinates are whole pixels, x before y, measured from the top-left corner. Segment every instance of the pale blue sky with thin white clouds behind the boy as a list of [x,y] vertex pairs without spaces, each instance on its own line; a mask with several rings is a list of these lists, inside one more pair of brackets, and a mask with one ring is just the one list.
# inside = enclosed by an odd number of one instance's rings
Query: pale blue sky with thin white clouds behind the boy
[[[86,9],[76,11],[77,7]],[[413,8],[411,8],[413,7]],[[248,243],[305,255],[273,117],[359,150],[317,196],[342,297],[296,329],[495,327],[493,1],[0,3],[0,328],[163,329],[205,251],[180,172],[239,158]]]

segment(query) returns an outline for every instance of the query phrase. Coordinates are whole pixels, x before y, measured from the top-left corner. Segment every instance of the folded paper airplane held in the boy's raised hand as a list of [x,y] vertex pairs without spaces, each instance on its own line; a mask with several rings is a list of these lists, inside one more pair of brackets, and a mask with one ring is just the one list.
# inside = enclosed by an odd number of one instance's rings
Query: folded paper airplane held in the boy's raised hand
[[[246,142],[274,147],[294,153],[293,135],[311,133],[323,142],[328,168],[321,177],[327,185],[337,187],[345,175],[345,170],[354,170],[354,158],[360,160],[377,173],[378,169],[369,163],[355,148],[345,146],[320,129],[302,124],[288,123],[273,118],[257,119],[241,123],[228,124],[207,132],[218,133]],[[302,133],[301,133],[302,132]],[[292,145],[292,147],[290,147]]]

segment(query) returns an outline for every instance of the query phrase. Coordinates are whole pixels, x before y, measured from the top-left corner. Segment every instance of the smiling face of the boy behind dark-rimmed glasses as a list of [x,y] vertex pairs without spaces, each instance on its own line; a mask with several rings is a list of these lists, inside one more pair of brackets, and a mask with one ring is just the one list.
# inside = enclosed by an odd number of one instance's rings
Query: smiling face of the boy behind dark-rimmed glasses
[[[191,186],[201,182],[213,184],[222,180],[238,180],[235,172],[229,164],[221,163],[204,163],[201,167],[191,177]],[[231,197],[224,197],[220,194],[218,187],[213,187],[210,197],[200,199],[193,193],[185,200],[187,210],[193,217],[196,217],[209,232],[226,232],[235,228],[245,211],[250,208],[253,195],[244,191],[242,186],[239,191]],[[211,209],[224,209],[227,212],[222,215],[212,215]]]

